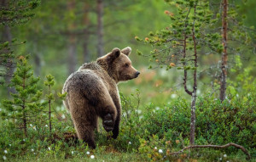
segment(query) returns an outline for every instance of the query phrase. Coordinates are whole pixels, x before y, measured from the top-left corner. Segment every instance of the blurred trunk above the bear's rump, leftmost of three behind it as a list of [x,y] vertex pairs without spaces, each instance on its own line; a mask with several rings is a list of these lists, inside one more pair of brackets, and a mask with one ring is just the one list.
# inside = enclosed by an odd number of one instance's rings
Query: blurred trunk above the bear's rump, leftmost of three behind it
[[[75,1],[70,0],[67,4],[67,8],[69,12],[74,12],[75,9]],[[76,36],[73,33],[75,29],[75,23],[71,20],[70,24],[68,25],[69,36],[68,36],[68,57],[67,57],[67,64],[68,64],[68,75],[73,73],[76,70],[77,64],[77,46],[76,46]]]

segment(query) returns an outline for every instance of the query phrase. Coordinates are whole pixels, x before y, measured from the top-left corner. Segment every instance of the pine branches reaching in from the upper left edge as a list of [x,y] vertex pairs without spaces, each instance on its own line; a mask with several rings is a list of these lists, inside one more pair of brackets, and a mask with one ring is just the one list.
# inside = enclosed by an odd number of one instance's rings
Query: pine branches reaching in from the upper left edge
[[[34,15],[32,10],[37,8],[39,0],[1,0],[0,1],[0,85],[10,83],[15,70],[13,46],[22,44],[15,41],[10,27],[24,25]],[[4,77],[4,81],[3,81]],[[7,87],[8,92],[15,92],[13,88]]]

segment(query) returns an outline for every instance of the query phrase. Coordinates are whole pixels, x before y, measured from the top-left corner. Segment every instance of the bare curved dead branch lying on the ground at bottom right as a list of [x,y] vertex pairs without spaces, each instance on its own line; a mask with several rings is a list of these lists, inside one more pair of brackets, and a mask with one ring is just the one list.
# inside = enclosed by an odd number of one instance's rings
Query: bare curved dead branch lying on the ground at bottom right
[[177,152],[173,152],[170,155],[181,154],[181,153],[183,153],[184,150],[190,149],[190,148],[228,148],[230,146],[234,146],[236,148],[241,149],[241,151],[244,154],[247,154],[247,160],[251,159],[251,155],[248,153],[246,148],[243,148],[241,145],[238,145],[238,144],[233,143],[233,142],[229,142],[229,143],[227,143],[225,145],[222,145],[222,146],[219,146],[219,145],[192,145],[192,146],[185,147],[185,148],[183,148],[183,149],[181,149]]

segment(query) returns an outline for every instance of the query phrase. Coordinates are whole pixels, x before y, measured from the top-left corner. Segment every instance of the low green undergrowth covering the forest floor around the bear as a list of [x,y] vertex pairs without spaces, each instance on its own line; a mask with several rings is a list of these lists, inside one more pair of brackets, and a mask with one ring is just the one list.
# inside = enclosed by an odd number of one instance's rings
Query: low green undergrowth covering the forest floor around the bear
[[[120,93],[123,114],[119,137],[115,140],[107,138],[106,131],[96,132],[97,148],[90,150],[86,143],[75,142],[67,139],[67,133],[74,133],[73,124],[67,115],[67,120],[53,118],[54,136],[48,137],[49,128],[47,120],[39,120],[38,125],[28,127],[29,136],[24,138],[18,130],[14,130],[12,122],[1,120],[0,147],[3,151],[0,156],[8,159],[26,156],[47,157],[50,159],[108,159],[109,152],[124,154],[139,154],[137,160],[176,161],[197,159],[199,161],[217,161],[219,158],[226,160],[245,160],[244,154],[236,148],[214,150],[210,148],[195,151],[185,151],[183,154],[172,156],[172,152],[189,145],[189,103],[183,98],[173,99],[163,107],[149,104],[147,109],[140,111],[138,104],[141,102],[140,92],[136,91],[130,97]],[[255,95],[249,95],[247,100],[232,98],[221,103],[212,97],[199,98],[197,104],[197,129],[196,144],[216,143],[219,145],[227,142],[236,142],[247,148],[255,158]],[[63,110],[64,112],[65,110]],[[62,112],[62,113],[63,113]],[[249,112],[249,114],[247,113]],[[61,111],[59,111],[61,113]],[[236,136],[234,136],[234,134]],[[8,154],[4,153],[8,151]],[[87,154],[87,152],[90,152]],[[104,154],[102,156],[102,154]],[[226,155],[228,154],[228,155]],[[235,155],[236,154],[236,155]]]

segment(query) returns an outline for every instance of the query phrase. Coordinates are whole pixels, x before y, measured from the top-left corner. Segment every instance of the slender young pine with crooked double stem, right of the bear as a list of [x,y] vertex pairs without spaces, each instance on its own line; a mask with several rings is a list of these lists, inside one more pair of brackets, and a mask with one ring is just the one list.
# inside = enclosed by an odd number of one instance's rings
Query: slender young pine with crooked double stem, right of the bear
[[[207,1],[198,0],[166,0],[175,8],[177,14],[165,11],[171,19],[171,25],[166,29],[149,32],[144,42],[153,45],[149,59],[158,64],[157,67],[166,67],[166,70],[177,68],[183,70],[183,88],[191,96],[191,122],[190,122],[190,144],[195,143],[195,103],[198,86],[198,70],[201,68],[199,57],[206,53],[221,53],[223,46],[220,43],[220,34],[208,32],[215,25],[212,11]],[[135,37],[137,41],[143,41]],[[139,55],[142,53],[138,52]],[[151,65],[148,67],[152,68]],[[192,81],[189,81],[189,75]],[[189,89],[189,83],[191,87]]]

